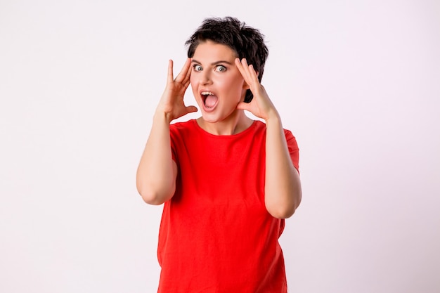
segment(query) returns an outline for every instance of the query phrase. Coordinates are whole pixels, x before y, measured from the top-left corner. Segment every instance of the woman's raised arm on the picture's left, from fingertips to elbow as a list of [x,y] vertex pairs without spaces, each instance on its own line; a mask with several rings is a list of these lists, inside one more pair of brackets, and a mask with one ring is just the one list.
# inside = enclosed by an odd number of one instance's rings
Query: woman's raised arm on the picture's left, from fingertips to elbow
[[174,79],[173,62],[169,60],[167,86],[157,105],[150,136],[136,173],[138,193],[148,204],[162,204],[176,190],[177,165],[172,159],[169,124],[173,119],[197,111],[194,106],[186,107],[183,103],[183,95],[190,84],[190,73],[188,59]]

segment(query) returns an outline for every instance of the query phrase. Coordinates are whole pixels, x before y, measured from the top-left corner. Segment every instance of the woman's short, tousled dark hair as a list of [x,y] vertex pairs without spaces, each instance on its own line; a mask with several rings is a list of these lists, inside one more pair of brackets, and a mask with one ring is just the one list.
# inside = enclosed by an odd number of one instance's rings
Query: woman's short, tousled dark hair
[[[264,44],[264,35],[259,30],[240,22],[237,18],[206,18],[202,25],[185,42],[188,46],[188,58],[193,58],[195,48],[204,41],[214,41],[232,48],[240,60],[246,58],[248,64],[258,72],[258,80],[263,77],[264,64],[268,56],[268,48]],[[248,89],[245,102],[249,103],[254,96]]]

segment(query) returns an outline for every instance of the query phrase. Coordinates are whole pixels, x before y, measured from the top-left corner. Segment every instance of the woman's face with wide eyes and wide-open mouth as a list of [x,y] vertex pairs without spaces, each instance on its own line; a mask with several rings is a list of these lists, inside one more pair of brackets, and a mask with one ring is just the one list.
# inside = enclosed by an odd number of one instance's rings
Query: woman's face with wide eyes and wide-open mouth
[[245,83],[234,61],[237,54],[226,45],[205,41],[195,49],[190,84],[206,122],[228,119],[245,98]]

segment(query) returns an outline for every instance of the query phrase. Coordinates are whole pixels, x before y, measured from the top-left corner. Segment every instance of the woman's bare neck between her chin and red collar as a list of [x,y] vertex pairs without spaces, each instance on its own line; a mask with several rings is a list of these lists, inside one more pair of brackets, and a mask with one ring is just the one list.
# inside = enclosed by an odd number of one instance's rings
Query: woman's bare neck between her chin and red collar
[[203,117],[198,118],[197,122],[199,126],[209,132],[209,134],[231,136],[245,131],[254,121],[245,115],[244,110],[236,110],[228,118],[219,122],[207,122]]

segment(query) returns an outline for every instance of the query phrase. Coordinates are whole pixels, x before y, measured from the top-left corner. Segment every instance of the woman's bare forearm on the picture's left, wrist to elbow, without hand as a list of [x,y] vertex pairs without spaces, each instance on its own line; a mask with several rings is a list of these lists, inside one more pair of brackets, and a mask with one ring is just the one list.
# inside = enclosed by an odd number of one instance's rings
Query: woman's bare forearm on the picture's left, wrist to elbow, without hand
[[149,204],[169,200],[176,188],[176,163],[172,159],[169,119],[157,112],[136,174],[136,187]]

